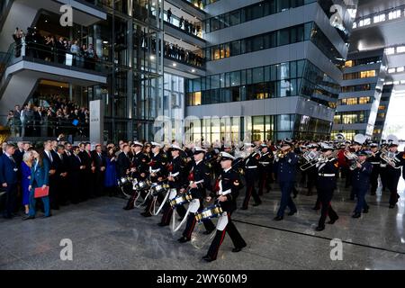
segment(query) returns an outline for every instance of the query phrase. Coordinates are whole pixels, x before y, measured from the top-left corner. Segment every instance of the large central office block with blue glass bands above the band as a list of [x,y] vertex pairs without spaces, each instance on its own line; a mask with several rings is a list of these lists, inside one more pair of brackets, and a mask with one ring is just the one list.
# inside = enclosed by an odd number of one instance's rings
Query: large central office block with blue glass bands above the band
[[207,75],[186,81],[186,138],[329,138],[356,12],[342,1],[338,25],[330,4],[207,5]]

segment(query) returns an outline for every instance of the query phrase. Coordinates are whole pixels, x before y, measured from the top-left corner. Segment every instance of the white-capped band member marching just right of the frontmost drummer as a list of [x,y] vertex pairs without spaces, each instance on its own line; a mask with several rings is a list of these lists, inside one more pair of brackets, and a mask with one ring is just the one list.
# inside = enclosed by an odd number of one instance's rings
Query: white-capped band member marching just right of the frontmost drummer
[[245,200],[243,201],[242,210],[247,210],[250,197],[253,196],[255,203],[253,206],[258,206],[262,203],[259,195],[255,189],[255,180],[257,178],[258,166],[260,153],[253,150],[254,144],[245,143],[245,149],[247,151],[248,157],[245,159],[244,171],[245,171],[245,180],[246,180],[246,195]]

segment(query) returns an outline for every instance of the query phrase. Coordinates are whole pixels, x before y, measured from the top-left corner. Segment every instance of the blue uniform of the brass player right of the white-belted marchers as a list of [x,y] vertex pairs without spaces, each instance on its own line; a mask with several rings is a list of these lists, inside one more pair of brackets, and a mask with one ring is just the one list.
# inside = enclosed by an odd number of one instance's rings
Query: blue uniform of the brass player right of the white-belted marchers
[[289,152],[284,157],[276,159],[277,178],[282,193],[280,208],[277,212],[278,220],[284,218],[284,211],[287,206],[290,208],[289,214],[293,215],[297,211],[291,193],[293,192],[299,158],[294,152]]

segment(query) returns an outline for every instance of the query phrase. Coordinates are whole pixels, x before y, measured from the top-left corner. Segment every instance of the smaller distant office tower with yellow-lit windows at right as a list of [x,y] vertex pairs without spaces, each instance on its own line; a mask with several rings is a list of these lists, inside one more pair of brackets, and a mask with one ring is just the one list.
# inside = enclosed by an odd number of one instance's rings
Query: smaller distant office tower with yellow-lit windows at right
[[349,53],[343,70],[332,137],[342,133],[347,139],[353,139],[360,133],[374,138],[374,125],[387,72],[386,62],[384,49]]

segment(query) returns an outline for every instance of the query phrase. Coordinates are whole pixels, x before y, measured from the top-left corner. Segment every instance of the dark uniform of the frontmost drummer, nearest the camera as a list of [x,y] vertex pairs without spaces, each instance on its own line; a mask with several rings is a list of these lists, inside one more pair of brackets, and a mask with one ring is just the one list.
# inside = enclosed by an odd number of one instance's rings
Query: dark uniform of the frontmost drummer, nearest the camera
[[222,189],[220,191],[215,191],[211,193],[211,197],[217,199],[221,195],[227,197],[227,201],[220,202],[220,207],[222,211],[227,212],[228,224],[222,231],[217,230],[215,238],[211,242],[211,246],[208,250],[207,256],[204,257],[207,261],[215,260],[218,256],[218,251],[220,250],[220,245],[225,238],[225,233],[228,232],[230,239],[235,247],[234,252],[240,251],[247,244],[245,240],[240,236],[238,229],[235,224],[230,219],[230,215],[237,209],[237,198],[239,194],[239,189],[241,187],[238,172],[229,168],[227,171],[222,171],[220,175],[220,184]]

